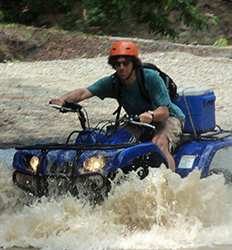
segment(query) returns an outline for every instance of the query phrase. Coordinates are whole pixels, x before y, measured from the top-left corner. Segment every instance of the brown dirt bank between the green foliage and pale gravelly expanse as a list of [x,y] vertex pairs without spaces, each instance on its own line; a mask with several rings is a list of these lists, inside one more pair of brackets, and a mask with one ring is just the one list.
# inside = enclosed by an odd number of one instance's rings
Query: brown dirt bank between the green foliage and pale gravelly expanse
[[[0,28],[0,62],[67,60],[106,56],[114,39],[117,38],[18,25],[3,26]],[[180,51],[199,56],[232,58],[232,47],[217,48],[133,39],[139,44],[142,53]]]

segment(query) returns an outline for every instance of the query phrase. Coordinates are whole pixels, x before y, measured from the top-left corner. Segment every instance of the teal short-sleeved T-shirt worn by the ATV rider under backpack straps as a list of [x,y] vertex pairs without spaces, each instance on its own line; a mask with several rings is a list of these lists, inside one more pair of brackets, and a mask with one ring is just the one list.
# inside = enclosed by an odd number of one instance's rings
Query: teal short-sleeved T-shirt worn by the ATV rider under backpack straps
[[[137,81],[131,86],[121,86],[121,104],[129,115],[139,115],[148,110],[155,110],[160,106],[166,106],[169,109],[170,116],[184,119],[181,109],[171,102],[168,90],[164,81],[158,72],[151,69],[144,69],[145,89],[149,93],[151,103],[149,103],[142,95]],[[107,76],[88,87],[88,90],[101,99],[106,97],[115,98],[116,89],[114,87],[114,76]]]

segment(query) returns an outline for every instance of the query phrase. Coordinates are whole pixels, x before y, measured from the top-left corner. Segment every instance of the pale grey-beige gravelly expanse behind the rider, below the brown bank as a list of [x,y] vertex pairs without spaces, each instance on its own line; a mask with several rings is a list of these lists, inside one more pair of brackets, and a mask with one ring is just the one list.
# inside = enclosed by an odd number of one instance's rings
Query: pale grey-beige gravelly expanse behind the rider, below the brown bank
[[[179,89],[214,89],[217,95],[217,123],[230,127],[231,59],[216,55],[200,57],[179,51],[144,53],[142,59],[157,64],[170,74]],[[48,106],[48,101],[111,74],[112,69],[106,61],[107,58],[103,56],[1,63],[1,147],[54,140],[62,142],[69,132],[80,128],[75,115],[53,110]],[[87,100],[83,105],[89,111],[93,124],[101,119],[113,118],[112,112],[117,107],[115,101],[102,102],[98,98]],[[226,120],[222,117],[226,117]]]

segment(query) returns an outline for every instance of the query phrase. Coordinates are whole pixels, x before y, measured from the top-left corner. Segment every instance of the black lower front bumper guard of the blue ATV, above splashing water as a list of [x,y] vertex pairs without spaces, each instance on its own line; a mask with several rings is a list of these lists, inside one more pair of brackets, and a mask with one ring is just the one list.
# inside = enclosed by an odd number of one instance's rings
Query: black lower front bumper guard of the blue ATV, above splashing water
[[35,196],[61,195],[70,193],[79,199],[97,203],[107,196],[110,181],[100,173],[84,173],[75,177],[65,175],[36,176],[19,171],[13,173],[13,182]]

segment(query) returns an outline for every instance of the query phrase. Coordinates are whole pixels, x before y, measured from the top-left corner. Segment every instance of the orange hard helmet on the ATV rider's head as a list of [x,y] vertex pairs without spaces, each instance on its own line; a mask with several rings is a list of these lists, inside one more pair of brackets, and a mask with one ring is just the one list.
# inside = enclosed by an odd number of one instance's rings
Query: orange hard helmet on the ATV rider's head
[[112,43],[109,57],[112,56],[134,56],[138,57],[139,50],[135,43],[130,41],[115,41]]

